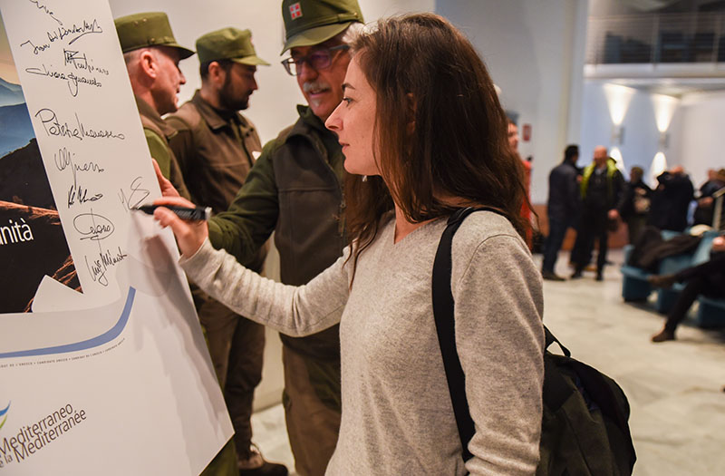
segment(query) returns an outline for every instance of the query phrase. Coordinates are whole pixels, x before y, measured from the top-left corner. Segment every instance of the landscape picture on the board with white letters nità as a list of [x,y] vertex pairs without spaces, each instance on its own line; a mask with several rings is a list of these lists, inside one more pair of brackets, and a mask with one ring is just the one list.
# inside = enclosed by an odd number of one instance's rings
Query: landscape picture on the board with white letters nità
[[0,314],[28,312],[43,276],[81,290],[0,16]]

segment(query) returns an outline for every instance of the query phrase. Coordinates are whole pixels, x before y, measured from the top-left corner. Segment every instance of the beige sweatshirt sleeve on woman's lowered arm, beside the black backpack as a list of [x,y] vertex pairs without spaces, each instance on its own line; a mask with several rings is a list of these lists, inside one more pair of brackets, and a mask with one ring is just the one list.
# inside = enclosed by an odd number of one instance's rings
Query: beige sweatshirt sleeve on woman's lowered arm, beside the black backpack
[[453,258],[456,345],[475,423],[466,468],[471,475],[534,474],[543,412],[541,277],[511,235],[481,242],[462,273]]

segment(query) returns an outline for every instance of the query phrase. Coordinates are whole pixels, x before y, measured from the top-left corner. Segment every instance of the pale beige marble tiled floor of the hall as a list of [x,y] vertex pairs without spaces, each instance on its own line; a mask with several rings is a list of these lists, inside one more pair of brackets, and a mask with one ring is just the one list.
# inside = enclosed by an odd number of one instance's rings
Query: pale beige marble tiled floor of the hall
[[[540,257],[536,257],[539,259]],[[632,407],[630,426],[638,476],[725,474],[725,331],[681,325],[678,340],[654,345],[664,318],[646,306],[624,304],[622,255],[614,251],[604,282],[594,274],[546,281],[545,324],[572,354],[609,374]],[[557,271],[567,275],[567,257]],[[253,417],[255,440],[267,459],[293,458],[284,412],[276,405]]]

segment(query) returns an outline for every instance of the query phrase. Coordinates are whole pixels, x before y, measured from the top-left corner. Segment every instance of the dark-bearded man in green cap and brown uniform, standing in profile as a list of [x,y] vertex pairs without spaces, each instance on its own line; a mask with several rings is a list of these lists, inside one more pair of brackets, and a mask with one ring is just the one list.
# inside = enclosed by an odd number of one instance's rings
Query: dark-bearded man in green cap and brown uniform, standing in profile
[[[262,151],[254,124],[238,111],[247,109],[257,89],[256,66],[269,63],[256,56],[249,30],[237,28],[201,36],[197,54],[201,89],[166,121],[177,131],[169,145],[191,199],[217,214],[229,207]],[[264,251],[260,249],[252,269],[261,270]],[[264,461],[251,442],[249,418],[255,387],[262,380],[264,326],[238,316],[199,289],[194,301],[234,424],[239,474],[285,476],[285,466]]]

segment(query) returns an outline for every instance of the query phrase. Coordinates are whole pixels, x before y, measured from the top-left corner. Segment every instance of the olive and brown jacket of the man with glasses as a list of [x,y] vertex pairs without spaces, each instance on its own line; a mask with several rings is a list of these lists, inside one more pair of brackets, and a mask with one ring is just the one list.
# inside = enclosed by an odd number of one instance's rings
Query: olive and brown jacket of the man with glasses
[[[306,284],[343,254],[343,151],[313,112],[266,143],[227,212],[209,221],[209,239],[245,264],[271,233],[280,255],[282,282]],[[338,326],[307,337],[283,335],[304,355],[340,358]]]

